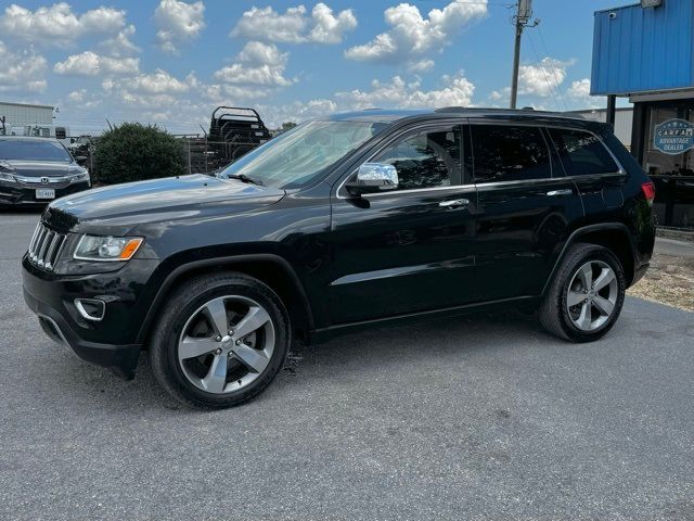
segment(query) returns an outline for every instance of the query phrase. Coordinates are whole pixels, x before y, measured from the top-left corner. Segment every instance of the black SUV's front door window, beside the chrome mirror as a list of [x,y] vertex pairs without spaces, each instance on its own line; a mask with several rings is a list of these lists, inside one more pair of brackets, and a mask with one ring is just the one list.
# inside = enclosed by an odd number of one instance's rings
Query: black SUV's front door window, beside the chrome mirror
[[404,138],[373,160],[398,170],[399,189],[448,187],[460,170],[460,128]]

